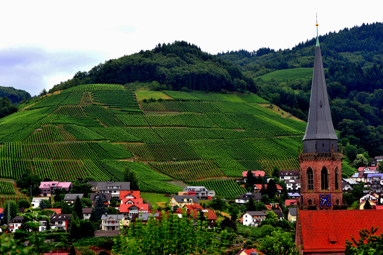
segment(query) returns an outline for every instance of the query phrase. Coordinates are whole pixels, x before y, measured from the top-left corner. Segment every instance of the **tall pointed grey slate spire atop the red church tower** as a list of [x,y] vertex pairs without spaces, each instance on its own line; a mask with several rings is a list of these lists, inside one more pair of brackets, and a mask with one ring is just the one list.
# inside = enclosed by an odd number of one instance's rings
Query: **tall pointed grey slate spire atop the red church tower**
[[334,152],[338,152],[338,138],[332,125],[321,47],[319,46],[318,23],[316,26],[313,82],[306,132],[303,136],[303,153],[332,152],[332,148],[334,148]]

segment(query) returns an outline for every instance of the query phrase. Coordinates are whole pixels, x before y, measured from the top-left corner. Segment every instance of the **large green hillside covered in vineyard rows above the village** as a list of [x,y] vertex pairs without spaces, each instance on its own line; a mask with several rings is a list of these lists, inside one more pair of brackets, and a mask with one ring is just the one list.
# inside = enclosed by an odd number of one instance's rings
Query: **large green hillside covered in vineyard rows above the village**
[[121,85],[85,84],[31,101],[0,119],[0,177],[29,167],[43,179],[119,181],[129,166],[144,192],[177,193],[170,181],[182,180],[233,198],[243,171],[298,169],[305,122],[254,94],[164,93],[174,99],[138,104]]

